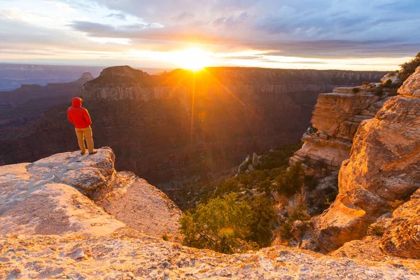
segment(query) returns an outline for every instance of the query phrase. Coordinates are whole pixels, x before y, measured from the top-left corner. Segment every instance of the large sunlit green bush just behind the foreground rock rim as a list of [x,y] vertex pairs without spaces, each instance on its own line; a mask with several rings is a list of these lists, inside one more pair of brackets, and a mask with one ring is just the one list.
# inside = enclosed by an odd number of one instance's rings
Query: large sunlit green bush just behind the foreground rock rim
[[179,222],[186,246],[221,253],[237,253],[256,246],[246,241],[251,224],[255,223],[253,214],[246,202],[237,201],[235,193],[200,204],[194,213],[184,213]]

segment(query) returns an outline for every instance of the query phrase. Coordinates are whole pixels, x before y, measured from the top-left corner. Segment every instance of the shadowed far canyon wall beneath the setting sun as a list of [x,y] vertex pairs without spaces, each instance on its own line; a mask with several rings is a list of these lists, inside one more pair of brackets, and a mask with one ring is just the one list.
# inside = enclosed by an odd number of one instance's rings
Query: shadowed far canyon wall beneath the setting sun
[[[151,76],[116,66],[86,83],[83,97],[95,143],[113,148],[116,168],[167,189],[206,181],[248,153],[297,141],[319,92],[379,81],[383,74],[221,67]],[[67,106],[47,111],[18,141],[2,141],[0,164],[75,150]]]

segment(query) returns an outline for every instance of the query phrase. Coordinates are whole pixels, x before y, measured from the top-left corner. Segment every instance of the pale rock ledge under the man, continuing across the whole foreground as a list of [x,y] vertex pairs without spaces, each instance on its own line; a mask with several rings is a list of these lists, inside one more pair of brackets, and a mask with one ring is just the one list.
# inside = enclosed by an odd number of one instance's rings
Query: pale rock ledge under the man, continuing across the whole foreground
[[[0,167],[1,279],[419,279],[419,260],[350,249],[347,258],[286,246],[225,255],[163,241],[181,211],[143,179],[116,172],[114,160],[101,148]],[[384,246],[405,250],[391,242]]]

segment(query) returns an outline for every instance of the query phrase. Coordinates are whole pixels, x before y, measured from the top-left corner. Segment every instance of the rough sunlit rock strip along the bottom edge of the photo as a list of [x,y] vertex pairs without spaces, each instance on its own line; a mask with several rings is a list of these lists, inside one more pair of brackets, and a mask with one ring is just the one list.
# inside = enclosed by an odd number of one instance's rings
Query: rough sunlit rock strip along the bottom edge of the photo
[[420,262],[349,260],[286,246],[226,255],[116,232],[0,236],[1,279],[418,279]]

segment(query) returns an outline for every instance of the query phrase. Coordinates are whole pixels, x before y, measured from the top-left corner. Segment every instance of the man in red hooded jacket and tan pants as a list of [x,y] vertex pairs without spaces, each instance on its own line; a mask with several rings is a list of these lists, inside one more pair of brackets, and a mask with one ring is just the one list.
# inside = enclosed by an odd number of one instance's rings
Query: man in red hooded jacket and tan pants
[[86,152],[85,139],[89,155],[97,153],[97,151],[94,151],[93,149],[92,128],[90,128],[92,120],[90,120],[87,110],[82,107],[82,99],[80,97],[74,97],[71,99],[71,105],[72,106],[67,109],[67,118],[69,118],[70,123],[74,125],[76,130],[81,154],[84,155]]

